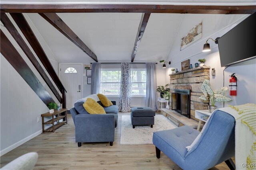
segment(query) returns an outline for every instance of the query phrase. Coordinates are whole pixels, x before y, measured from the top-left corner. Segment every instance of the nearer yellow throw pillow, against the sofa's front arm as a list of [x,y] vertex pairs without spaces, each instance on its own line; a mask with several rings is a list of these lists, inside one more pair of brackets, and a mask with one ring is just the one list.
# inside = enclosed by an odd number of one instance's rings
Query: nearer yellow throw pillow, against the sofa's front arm
[[92,98],[87,98],[87,100],[83,104],[84,109],[90,114],[106,114],[106,111],[100,104],[98,104]]

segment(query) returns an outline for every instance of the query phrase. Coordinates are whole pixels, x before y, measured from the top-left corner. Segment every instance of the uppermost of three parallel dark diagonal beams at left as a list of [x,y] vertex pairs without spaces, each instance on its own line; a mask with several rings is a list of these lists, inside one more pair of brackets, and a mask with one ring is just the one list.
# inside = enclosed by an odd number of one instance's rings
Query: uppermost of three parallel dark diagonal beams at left
[[[54,68],[52,67],[52,64],[50,63],[48,57],[44,53],[43,48],[41,47],[40,43],[38,42],[38,39],[34,35],[32,29],[28,25],[28,22],[24,18],[24,16],[20,13],[10,13],[13,20],[16,22],[18,27],[20,28],[20,31],[22,31],[23,35],[26,37],[28,40],[28,43],[32,47],[32,49],[35,51],[37,57],[40,59],[44,67],[46,68],[46,71],[49,73],[51,76],[52,80],[62,92],[62,89],[65,89],[64,86],[62,85],[58,75],[56,74]],[[65,90],[66,91],[66,90]]]

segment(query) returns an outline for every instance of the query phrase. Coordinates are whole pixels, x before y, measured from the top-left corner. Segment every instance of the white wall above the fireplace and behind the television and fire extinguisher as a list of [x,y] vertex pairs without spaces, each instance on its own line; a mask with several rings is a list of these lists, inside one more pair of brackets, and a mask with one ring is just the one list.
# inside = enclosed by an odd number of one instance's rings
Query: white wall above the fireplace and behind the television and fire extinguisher
[[[195,63],[199,63],[198,59],[206,59],[205,65],[211,66],[216,69],[216,76],[211,76],[210,83],[212,88],[219,89],[223,86],[223,70],[225,67],[220,66],[220,56],[218,52],[218,45],[209,40],[212,51],[203,53],[202,47],[208,38],[215,39],[221,37],[230,29],[232,29],[237,23],[244,20],[248,15],[201,15],[201,14],[186,14],[182,20],[179,31],[176,35],[174,44],[170,50],[167,61],[171,61],[171,68],[178,68],[181,70],[181,62],[190,59],[190,64],[195,67]],[[180,51],[180,39],[183,37],[189,29],[202,21],[202,38],[187,48]],[[170,68],[170,69],[171,69]],[[169,71],[166,69],[166,83],[169,80]],[[238,74],[238,95],[232,97],[232,102],[225,103],[239,105],[244,103],[256,102],[256,59],[238,63],[226,68],[224,72],[225,86],[228,86],[229,74],[236,72]],[[223,107],[223,103],[216,102],[218,107]]]

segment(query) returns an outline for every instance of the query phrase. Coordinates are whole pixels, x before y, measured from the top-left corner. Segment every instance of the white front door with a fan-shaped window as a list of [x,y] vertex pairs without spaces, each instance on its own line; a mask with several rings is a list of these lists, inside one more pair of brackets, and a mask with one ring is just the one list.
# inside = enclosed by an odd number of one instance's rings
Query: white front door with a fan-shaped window
[[60,80],[67,90],[66,107],[70,110],[82,98],[81,64],[60,64]]

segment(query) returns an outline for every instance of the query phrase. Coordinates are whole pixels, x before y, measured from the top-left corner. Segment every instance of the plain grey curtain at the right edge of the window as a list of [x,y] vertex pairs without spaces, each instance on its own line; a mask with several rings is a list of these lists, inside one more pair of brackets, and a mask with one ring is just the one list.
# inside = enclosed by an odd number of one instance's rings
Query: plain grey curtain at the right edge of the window
[[156,93],[156,63],[146,63],[147,85],[146,85],[146,106],[157,110]]

